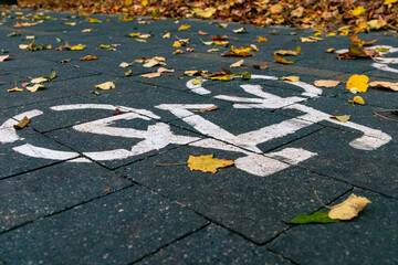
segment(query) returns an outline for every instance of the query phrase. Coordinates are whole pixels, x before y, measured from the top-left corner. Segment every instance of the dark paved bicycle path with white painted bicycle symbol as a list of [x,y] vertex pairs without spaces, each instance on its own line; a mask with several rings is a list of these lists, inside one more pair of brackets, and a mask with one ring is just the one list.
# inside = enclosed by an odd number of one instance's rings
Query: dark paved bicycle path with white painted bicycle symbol
[[[395,62],[337,60],[325,51],[350,45],[338,33],[303,43],[298,38],[312,30],[103,14],[88,23],[51,11],[32,21],[34,14],[3,11],[0,22],[1,55],[12,54],[0,62],[0,263],[398,263],[397,124],[374,114],[394,119],[384,110],[397,108],[398,95],[369,88],[360,94],[366,105],[353,105],[355,95],[345,87],[354,74],[397,82]],[[39,23],[13,28],[25,22]],[[190,28],[179,31],[185,24]],[[242,26],[245,33],[233,32]],[[138,32],[150,36],[126,36]],[[170,38],[163,38],[167,32]],[[258,46],[241,68],[230,68],[250,72],[250,80],[192,84],[196,76],[184,74],[220,72],[241,60],[220,56],[230,46],[202,43],[217,34],[235,47]],[[51,49],[20,49],[32,42],[27,36]],[[260,36],[268,42],[258,42]],[[394,33],[358,36],[387,46],[386,59],[396,56]],[[189,45],[172,46],[180,39]],[[66,43],[86,46],[65,51]],[[300,55],[286,56],[293,64],[274,62],[274,51],[296,46]],[[97,60],[80,60],[86,55]],[[154,56],[165,57],[164,67],[175,72],[143,77],[159,66],[136,60]],[[252,67],[264,62],[264,70]],[[22,87],[52,70],[56,76],[43,83],[45,89]],[[292,75],[300,82],[281,81]],[[316,80],[343,82],[320,88]],[[111,81],[113,89],[95,87]],[[15,86],[23,91],[7,92]],[[350,119],[336,121],[334,115]],[[15,130],[24,116],[30,124]],[[172,165],[210,153],[235,165],[217,173]],[[350,193],[371,204],[352,221],[287,224],[324,209],[314,190],[327,205]]]

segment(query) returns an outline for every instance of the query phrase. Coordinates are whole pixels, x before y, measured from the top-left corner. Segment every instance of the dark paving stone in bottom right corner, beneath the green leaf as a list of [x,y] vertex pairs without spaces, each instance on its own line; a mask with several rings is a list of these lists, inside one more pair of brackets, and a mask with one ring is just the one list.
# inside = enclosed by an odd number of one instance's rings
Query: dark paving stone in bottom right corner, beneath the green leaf
[[[298,264],[396,264],[397,200],[354,190],[371,204],[352,221],[300,225],[268,246]],[[344,198],[346,199],[346,198]]]

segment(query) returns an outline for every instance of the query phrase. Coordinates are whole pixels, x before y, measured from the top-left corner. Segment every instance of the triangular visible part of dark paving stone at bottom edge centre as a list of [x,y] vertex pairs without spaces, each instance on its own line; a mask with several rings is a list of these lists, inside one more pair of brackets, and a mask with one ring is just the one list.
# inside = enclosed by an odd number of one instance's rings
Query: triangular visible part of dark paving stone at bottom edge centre
[[198,231],[137,264],[291,264],[217,225]]

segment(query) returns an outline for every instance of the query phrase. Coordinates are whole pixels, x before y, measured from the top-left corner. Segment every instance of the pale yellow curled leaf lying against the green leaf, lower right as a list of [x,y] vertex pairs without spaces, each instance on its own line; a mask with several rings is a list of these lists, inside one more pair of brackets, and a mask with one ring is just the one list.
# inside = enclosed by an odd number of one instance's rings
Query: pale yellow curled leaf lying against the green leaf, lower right
[[331,208],[328,216],[338,220],[352,220],[365,208],[366,204],[371,203],[365,197],[357,197],[354,193],[344,202]]

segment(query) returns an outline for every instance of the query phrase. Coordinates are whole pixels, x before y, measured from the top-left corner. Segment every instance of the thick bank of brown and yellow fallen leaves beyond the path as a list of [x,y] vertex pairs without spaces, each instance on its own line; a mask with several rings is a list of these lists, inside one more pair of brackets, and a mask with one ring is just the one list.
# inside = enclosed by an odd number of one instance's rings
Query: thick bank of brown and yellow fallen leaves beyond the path
[[398,0],[19,0],[21,8],[74,11],[80,14],[119,13],[157,18],[221,19],[256,25],[286,24],[354,32],[397,30]]

